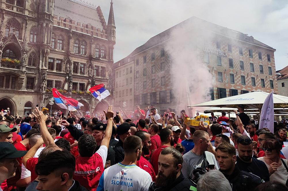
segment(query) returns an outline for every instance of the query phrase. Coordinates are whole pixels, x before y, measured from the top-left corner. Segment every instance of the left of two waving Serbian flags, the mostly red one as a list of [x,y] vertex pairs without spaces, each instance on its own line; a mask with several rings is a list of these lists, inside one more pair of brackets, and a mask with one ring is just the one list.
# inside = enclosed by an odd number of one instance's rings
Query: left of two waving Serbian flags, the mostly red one
[[55,103],[62,109],[66,109],[66,110],[68,109],[69,111],[71,111],[71,110],[75,110],[83,106],[83,104],[81,104],[77,100],[74,100],[73,98],[65,97],[59,91],[57,91],[56,88],[52,89],[52,94],[53,94]]

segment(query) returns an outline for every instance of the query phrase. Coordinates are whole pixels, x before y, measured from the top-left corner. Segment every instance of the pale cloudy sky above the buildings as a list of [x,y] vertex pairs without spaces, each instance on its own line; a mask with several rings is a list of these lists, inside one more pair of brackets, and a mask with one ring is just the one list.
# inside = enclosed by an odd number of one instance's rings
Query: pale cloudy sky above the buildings
[[[88,0],[100,5],[106,22],[109,0]],[[288,1],[286,0],[114,0],[118,61],[149,38],[192,16],[252,35],[276,49],[276,70],[288,65]]]

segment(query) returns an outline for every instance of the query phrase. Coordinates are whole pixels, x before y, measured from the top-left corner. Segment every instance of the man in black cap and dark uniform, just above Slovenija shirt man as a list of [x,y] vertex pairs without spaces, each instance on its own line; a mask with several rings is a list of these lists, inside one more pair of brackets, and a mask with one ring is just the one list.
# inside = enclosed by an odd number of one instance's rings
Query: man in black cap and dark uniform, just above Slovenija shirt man
[[131,136],[130,125],[127,122],[124,122],[119,125],[116,130],[117,135],[119,135],[119,141],[114,147],[115,151],[115,163],[119,163],[124,160],[124,149],[123,149],[123,142],[126,137]]

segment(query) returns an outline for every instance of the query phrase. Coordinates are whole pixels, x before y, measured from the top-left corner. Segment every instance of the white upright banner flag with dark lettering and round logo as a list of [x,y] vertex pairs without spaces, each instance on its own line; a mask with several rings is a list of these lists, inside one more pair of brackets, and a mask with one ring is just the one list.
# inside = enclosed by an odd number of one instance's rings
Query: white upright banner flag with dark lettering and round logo
[[269,93],[265,99],[259,120],[259,129],[268,128],[270,132],[274,133],[274,104],[273,104],[273,93]]

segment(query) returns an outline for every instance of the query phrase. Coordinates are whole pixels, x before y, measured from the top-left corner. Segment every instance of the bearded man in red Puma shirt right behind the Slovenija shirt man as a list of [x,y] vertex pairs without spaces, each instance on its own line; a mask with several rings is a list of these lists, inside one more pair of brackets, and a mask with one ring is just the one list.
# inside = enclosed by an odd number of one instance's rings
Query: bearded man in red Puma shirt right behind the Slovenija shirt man
[[152,165],[144,158],[145,155],[149,155],[150,153],[150,146],[151,146],[151,139],[149,133],[139,130],[135,132],[135,136],[140,137],[142,140],[142,154],[139,160],[137,160],[136,165],[139,166],[141,169],[148,172],[152,178],[152,181],[155,180],[155,172],[153,170]]

